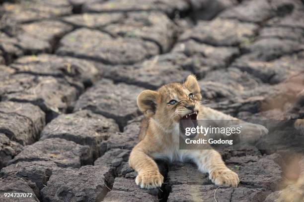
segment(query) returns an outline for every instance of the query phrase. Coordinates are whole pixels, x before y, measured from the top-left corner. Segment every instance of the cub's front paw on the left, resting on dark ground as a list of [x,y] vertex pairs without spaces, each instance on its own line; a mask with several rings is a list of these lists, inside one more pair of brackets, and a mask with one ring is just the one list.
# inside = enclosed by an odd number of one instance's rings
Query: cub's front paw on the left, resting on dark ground
[[143,189],[155,189],[161,187],[163,176],[158,171],[140,172],[135,183]]

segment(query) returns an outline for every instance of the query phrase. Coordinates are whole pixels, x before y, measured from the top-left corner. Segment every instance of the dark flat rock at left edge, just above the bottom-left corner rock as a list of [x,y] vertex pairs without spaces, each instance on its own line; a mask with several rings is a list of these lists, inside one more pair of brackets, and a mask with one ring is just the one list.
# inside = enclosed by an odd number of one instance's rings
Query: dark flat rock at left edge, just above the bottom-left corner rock
[[52,161],[20,161],[3,168],[0,176],[16,175],[19,178],[30,180],[39,190],[46,186],[53,170],[59,169]]

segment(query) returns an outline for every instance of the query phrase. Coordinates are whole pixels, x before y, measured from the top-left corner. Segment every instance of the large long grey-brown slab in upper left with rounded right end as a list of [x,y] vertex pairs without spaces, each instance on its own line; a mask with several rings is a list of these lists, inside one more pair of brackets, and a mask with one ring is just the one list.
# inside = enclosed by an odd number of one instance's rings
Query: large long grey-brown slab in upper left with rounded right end
[[91,59],[105,64],[133,64],[158,54],[158,47],[148,41],[133,38],[113,38],[86,28],[77,29],[61,41],[59,55]]

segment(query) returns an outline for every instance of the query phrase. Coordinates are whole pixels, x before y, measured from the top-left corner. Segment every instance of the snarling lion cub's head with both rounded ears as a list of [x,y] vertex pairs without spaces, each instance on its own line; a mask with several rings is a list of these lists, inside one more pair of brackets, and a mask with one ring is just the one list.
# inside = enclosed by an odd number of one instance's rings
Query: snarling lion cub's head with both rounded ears
[[195,76],[181,83],[170,83],[157,91],[145,90],[137,97],[140,110],[164,127],[180,120],[196,120],[202,99]]

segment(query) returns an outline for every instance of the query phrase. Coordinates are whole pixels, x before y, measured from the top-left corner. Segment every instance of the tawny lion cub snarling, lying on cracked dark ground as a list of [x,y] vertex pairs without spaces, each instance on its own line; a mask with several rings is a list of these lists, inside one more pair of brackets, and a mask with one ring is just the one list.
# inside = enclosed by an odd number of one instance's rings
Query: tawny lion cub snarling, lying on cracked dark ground
[[[216,185],[237,187],[236,173],[222,160],[219,152],[210,150],[179,150],[179,121],[190,114],[197,119],[237,120],[222,112],[202,106],[202,96],[196,78],[188,76],[184,84],[171,83],[157,91],[145,90],[137,98],[145,120],[139,142],[129,158],[130,166],[138,172],[136,184],[141,188],[160,187],[163,176],[153,159],[193,161],[202,172],[208,172]],[[196,118],[196,116],[195,116]]]

